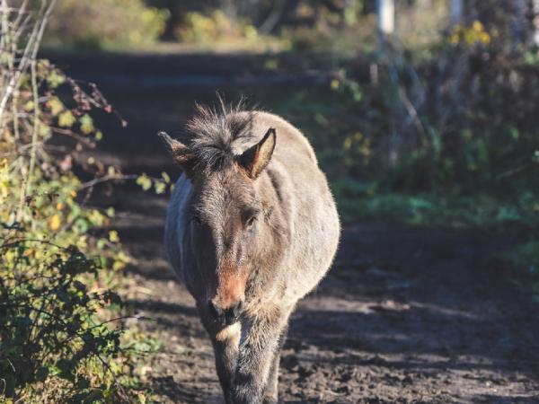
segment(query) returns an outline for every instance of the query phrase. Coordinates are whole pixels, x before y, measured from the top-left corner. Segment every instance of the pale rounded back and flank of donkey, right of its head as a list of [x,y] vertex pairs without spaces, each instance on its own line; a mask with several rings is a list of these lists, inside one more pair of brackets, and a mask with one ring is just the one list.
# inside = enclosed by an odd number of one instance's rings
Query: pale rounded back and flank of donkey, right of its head
[[253,133],[274,127],[277,145],[266,169],[287,216],[289,261],[284,265],[287,302],[310,292],[331,266],[340,236],[339,215],[313,147],[287,120],[254,116]]

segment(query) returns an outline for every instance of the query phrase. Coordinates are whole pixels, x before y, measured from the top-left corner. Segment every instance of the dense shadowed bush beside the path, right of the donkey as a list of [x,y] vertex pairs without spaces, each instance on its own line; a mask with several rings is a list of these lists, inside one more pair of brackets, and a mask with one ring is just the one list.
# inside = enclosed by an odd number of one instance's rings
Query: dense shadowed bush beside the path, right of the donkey
[[341,62],[324,89],[279,102],[288,116],[308,117],[301,126],[341,213],[539,223],[536,51],[511,48],[487,27],[446,30],[428,52],[387,44]]

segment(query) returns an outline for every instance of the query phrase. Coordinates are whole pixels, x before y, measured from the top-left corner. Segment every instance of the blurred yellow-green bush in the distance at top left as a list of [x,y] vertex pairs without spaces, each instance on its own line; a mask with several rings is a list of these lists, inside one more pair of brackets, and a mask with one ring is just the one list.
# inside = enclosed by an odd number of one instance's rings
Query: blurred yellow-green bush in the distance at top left
[[145,48],[163,34],[167,10],[142,0],[59,0],[45,43],[75,48]]

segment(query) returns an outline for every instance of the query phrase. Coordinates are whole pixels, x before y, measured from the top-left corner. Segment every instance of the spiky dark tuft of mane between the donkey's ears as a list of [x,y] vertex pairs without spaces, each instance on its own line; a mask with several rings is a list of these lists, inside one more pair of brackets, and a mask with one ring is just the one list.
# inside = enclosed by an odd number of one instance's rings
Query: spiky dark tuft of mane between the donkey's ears
[[187,123],[188,145],[199,169],[222,170],[234,160],[234,146],[252,140],[253,110],[245,110],[243,101],[226,105],[219,97],[217,107],[197,104],[197,111]]

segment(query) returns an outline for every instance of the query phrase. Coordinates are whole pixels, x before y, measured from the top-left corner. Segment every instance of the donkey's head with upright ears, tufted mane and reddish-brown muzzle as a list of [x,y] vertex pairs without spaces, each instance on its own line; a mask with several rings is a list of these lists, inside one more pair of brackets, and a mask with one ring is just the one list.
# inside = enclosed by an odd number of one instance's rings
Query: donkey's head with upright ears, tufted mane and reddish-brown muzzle
[[249,137],[251,118],[243,117],[241,125],[235,125],[233,118],[208,113],[207,120],[191,121],[193,136],[188,144],[160,134],[193,185],[188,232],[206,284],[206,295],[201,296],[205,301],[199,303],[207,304],[208,312],[223,325],[236,321],[243,308],[264,221],[257,179],[276,143],[275,130],[270,128],[258,143],[234,154],[233,142]]

